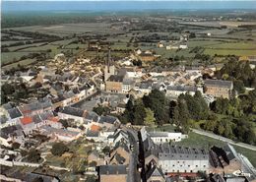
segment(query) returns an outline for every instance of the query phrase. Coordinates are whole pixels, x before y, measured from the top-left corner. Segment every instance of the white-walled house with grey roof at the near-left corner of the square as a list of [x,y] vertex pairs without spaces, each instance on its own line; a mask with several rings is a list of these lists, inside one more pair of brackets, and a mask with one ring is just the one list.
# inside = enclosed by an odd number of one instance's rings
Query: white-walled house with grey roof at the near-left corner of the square
[[84,117],[86,116],[86,114],[87,111],[71,106],[62,107],[58,112],[58,116],[60,119],[72,119],[74,120],[74,123],[77,123],[79,125],[82,125],[84,123]]

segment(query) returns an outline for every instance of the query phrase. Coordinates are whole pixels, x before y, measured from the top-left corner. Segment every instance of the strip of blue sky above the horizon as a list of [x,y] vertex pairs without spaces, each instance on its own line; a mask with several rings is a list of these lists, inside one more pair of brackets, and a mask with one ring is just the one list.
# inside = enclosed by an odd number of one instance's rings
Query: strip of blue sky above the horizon
[[[118,1],[118,3],[117,3]],[[256,0],[3,0],[2,11],[255,10]]]

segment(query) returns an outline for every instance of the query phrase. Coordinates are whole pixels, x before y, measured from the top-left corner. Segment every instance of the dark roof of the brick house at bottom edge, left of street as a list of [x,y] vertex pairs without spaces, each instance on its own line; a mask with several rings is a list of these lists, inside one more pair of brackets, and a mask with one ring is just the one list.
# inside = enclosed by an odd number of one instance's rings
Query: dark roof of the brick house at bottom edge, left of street
[[98,167],[99,175],[120,175],[127,174],[126,165],[100,165]]

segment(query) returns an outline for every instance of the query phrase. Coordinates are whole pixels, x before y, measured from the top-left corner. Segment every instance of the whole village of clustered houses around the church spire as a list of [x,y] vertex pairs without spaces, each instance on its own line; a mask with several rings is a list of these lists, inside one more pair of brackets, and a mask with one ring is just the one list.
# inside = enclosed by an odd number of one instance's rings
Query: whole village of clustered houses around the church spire
[[[36,69],[2,74],[2,83],[35,92],[25,98],[13,95],[1,105],[0,163],[6,171],[1,181],[256,181],[249,159],[228,142],[223,148],[192,148],[178,144],[189,137],[182,132],[150,130],[119,120],[130,96],[140,98],[154,90],[173,100],[200,91],[208,105],[235,94],[232,81],[203,79],[222,65],[134,65],[134,60],[147,64],[158,56],[135,49],[130,57],[113,60],[109,46],[104,64],[57,54]],[[95,107],[107,107],[109,112],[97,114]],[[80,177],[68,178],[70,173]]]

